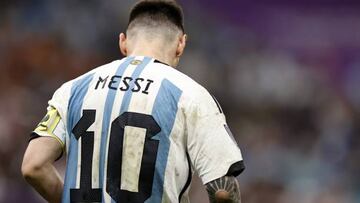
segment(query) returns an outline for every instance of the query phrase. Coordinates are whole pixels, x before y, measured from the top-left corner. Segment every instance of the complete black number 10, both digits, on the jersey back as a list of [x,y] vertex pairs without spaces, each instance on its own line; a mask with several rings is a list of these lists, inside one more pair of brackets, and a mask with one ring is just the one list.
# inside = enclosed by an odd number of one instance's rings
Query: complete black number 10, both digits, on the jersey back
[[[70,190],[72,202],[101,202],[101,189],[91,188],[91,169],[94,148],[94,133],[86,131],[95,122],[95,110],[84,110],[83,116],[73,129],[81,141],[80,188]],[[144,151],[141,160],[138,192],[121,190],[121,165],[125,126],[146,129]],[[116,202],[144,202],[151,196],[158,151],[158,140],[151,139],[161,131],[151,115],[125,112],[111,124],[106,192]]]

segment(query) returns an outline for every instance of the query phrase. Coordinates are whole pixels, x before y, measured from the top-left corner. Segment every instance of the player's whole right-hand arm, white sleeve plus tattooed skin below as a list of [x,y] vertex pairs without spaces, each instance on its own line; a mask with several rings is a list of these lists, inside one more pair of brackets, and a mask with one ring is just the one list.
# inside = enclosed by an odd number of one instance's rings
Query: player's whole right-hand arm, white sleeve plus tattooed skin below
[[210,202],[241,202],[236,176],[245,166],[220,105],[206,94],[189,109],[189,157],[205,184]]

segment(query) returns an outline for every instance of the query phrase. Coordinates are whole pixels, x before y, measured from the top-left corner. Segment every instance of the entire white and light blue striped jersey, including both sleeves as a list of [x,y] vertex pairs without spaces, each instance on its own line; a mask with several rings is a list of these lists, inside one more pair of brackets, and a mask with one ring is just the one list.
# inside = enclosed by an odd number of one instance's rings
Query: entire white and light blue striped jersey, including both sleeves
[[206,184],[242,163],[208,91],[143,56],[63,84],[34,134],[66,153],[62,202],[189,202],[194,171]]

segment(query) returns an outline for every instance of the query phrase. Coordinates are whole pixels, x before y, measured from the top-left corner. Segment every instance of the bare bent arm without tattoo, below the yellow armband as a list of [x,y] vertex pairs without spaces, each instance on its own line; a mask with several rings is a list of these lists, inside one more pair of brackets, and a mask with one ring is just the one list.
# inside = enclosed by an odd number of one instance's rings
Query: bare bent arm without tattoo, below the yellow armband
[[54,138],[33,139],[21,166],[26,181],[50,203],[61,202],[63,181],[53,166],[61,152],[61,144]]

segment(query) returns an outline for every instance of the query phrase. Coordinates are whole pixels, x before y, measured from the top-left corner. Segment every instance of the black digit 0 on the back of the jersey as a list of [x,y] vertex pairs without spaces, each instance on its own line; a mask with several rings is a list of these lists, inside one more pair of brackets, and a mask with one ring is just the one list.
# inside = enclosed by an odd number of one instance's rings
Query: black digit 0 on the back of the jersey
[[[125,126],[146,129],[144,152],[140,168],[139,192],[129,192],[120,189]],[[150,115],[125,112],[113,121],[109,141],[106,191],[116,202],[144,202],[151,196],[159,144],[158,140],[152,140],[151,138],[159,132],[159,125]]]

